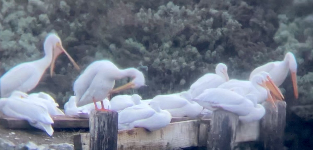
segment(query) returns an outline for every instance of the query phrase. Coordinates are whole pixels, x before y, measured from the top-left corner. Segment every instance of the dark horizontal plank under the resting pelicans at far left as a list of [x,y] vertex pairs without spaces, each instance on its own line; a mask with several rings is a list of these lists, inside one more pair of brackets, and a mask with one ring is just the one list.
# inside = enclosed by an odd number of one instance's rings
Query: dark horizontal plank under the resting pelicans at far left
[[[54,124],[53,128],[89,128],[89,120],[82,118],[74,118],[69,116],[52,116]],[[22,129],[34,128],[29,125],[28,121],[8,116],[0,117],[0,124],[5,128]]]

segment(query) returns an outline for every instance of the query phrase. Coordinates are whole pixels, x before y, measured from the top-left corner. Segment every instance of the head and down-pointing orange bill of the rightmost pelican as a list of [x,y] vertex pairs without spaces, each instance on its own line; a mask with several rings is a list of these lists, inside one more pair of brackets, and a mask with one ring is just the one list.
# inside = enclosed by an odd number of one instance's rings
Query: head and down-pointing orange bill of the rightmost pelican
[[287,62],[289,65],[295,98],[298,99],[299,93],[297,85],[297,61],[295,60],[295,56],[291,52],[286,53],[284,61]]

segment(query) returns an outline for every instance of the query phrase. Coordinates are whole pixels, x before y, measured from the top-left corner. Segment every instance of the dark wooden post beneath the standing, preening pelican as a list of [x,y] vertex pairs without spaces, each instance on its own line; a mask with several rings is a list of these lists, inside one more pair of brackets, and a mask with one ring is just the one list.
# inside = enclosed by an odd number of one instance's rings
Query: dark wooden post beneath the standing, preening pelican
[[90,150],[117,150],[118,114],[115,111],[90,112]]

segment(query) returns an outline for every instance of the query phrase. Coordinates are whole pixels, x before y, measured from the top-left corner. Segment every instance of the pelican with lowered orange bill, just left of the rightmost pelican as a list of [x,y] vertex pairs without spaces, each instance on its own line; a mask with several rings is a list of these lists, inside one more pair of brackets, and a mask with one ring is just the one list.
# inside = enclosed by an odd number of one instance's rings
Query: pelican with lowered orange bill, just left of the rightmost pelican
[[[266,72],[264,72],[264,74],[266,74]],[[237,94],[240,94],[242,96],[252,94],[255,96],[257,103],[260,104],[263,103],[265,100],[268,100],[275,106],[275,103],[272,99],[272,96],[270,95],[269,88],[267,87],[266,82],[271,81],[268,81],[267,78],[264,77],[264,75],[257,74],[253,76],[251,81],[232,79],[229,80],[228,82],[219,85],[218,88],[228,90],[231,90],[232,88],[239,88],[240,93],[236,92]],[[275,86],[275,84],[273,85]],[[275,87],[277,88],[277,86]]]

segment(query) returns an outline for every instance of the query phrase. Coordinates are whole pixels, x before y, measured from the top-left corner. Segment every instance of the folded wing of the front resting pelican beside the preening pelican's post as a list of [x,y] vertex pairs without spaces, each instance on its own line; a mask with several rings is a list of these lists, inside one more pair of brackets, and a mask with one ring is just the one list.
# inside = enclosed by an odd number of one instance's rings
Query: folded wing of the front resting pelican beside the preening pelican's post
[[137,120],[147,119],[155,114],[155,110],[147,104],[128,107],[119,113],[119,124],[132,123]]

